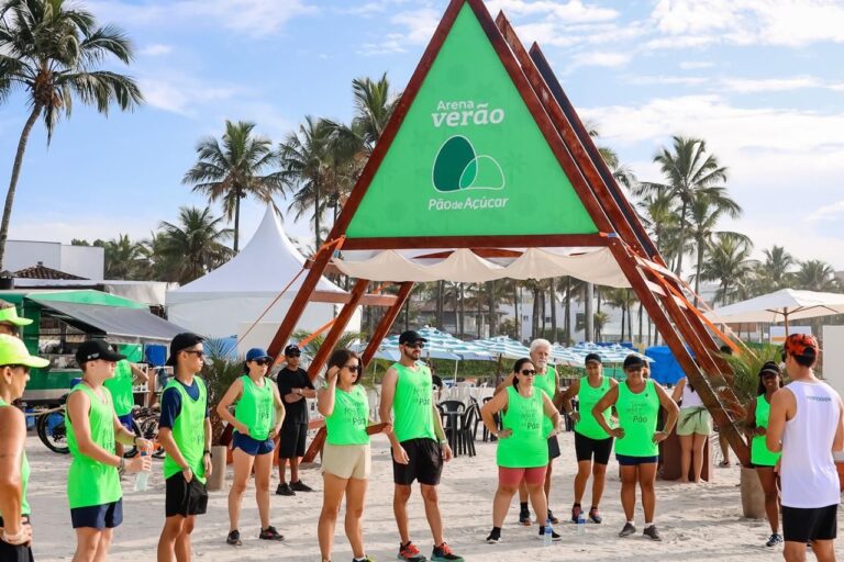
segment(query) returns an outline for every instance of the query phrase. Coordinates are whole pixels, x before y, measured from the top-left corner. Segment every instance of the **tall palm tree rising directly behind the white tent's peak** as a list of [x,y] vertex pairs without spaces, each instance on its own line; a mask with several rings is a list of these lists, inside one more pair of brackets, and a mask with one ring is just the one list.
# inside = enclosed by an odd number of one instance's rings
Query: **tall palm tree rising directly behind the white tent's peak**
[[197,144],[197,164],[181,180],[212,203],[222,200],[225,217],[234,220],[235,254],[241,231],[241,200],[252,195],[271,203],[273,195],[281,190],[277,172],[264,173],[275,162],[273,145],[268,138],[254,135],[254,128],[255,123],[226,120],[222,144],[214,137],[202,138]]

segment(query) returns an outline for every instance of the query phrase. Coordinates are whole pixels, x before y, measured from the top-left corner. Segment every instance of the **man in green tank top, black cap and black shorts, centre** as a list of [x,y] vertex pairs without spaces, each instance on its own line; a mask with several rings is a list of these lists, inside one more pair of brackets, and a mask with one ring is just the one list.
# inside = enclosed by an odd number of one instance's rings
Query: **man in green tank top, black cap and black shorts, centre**
[[[396,484],[392,508],[399,526],[401,543],[399,560],[425,560],[410,540],[407,504],[411,484],[419,481],[434,550],[431,560],[463,562],[443,539],[443,519],[437,503],[436,486],[443,472],[443,461],[452,460],[452,449],[445,440],[440,413],[433,404],[431,371],[419,364],[425,339],[413,330],[399,336],[401,358],[381,380],[381,422],[391,424],[387,437],[392,445],[392,476]],[[393,416],[391,416],[391,411]]]

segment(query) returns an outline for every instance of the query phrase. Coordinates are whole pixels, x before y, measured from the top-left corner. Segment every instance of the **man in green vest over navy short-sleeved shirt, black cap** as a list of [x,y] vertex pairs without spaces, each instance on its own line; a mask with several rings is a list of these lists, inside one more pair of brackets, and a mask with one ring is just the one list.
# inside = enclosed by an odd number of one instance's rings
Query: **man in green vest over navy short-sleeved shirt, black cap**
[[192,557],[190,533],[197,515],[208,507],[206,477],[211,474],[211,423],[208,392],[197,374],[204,364],[203,338],[177,334],[167,360],[174,379],[162,394],[158,440],[164,460],[166,498],[164,529],[158,539],[158,562],[188,562]]

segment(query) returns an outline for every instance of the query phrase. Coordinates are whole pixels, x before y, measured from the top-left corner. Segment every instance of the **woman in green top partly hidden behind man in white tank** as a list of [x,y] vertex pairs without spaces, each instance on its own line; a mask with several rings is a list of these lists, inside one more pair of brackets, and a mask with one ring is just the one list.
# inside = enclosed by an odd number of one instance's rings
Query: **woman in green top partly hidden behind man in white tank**
[[776,547],[782,542],[779,533],[779,482],[775,467],[781,453],[771,452],[765,443],[765,434],[770,414],[770,398],[782,387],[782,372],[774,361],[768,361],[759,370],[759,385],[756,400],[747,408],[747,436],[751,441],[751,462],[756,468],[762,490],[765,492],[765,514],[770,525],[770,537],[766,547]]

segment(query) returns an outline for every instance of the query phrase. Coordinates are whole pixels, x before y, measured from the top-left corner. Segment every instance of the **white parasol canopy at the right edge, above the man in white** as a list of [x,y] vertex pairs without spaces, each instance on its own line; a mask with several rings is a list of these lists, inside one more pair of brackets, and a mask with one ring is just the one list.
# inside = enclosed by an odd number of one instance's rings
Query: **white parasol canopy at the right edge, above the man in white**
[[781,289],[774,293],[722,306],[707,314],[712,322],[786,322],[844,314],[844,294]]

